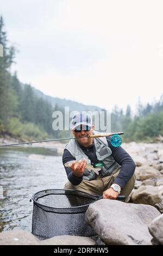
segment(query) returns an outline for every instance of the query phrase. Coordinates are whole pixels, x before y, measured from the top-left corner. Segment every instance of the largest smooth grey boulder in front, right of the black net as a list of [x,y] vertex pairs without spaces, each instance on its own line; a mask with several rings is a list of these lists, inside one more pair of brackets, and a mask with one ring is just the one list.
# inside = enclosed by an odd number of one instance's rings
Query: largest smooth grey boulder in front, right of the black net
[[86,211],[86,222],[106,245],[151,245],[148,225],[160,212],[151,205],[101,199]]

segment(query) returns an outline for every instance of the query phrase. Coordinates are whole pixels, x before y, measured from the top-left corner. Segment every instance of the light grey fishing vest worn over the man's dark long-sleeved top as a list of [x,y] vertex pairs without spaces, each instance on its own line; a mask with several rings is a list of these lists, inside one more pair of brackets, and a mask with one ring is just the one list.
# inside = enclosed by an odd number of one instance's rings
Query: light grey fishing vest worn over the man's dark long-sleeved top
[[[97,131],[92,132],[93,135],[100,133]],[[111,156],[112,151],[108,147],[108,142],[105,137],[93,138],[93,143],[95,144],[96,156],[99,161],[101,161],[104,167],[99,171],[103,177],[109,176],[114,172],[115,169],[120,167],[114,158]],[[76,139],[71,139],[71,141],[65,147],[76,160],[86,159],[88,164],[91,164],[90,159],[87,155],[84,154],[83,150],[80,148],[80,145],[77,143]],[[83,173],[84,180],[95,180],[96,174],[93,170],[84,170]]]

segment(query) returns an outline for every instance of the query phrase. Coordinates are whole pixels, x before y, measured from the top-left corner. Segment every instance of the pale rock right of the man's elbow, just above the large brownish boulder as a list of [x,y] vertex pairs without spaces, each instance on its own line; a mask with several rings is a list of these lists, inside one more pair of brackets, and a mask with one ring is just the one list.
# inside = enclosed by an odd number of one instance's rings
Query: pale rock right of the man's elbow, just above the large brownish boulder
[[160,178],[161,174],[158,170],[151,166],[136,167],[135,175],[137,180],[147,180],[150,178]]

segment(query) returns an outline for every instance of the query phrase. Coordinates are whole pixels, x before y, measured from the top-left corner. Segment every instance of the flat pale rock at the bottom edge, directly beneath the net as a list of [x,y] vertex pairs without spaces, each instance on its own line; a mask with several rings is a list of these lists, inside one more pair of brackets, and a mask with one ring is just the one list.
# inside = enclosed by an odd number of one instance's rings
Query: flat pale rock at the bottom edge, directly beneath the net
[[40,245],[95,245],[96,241],[90,237],[59,235],[40,242]]

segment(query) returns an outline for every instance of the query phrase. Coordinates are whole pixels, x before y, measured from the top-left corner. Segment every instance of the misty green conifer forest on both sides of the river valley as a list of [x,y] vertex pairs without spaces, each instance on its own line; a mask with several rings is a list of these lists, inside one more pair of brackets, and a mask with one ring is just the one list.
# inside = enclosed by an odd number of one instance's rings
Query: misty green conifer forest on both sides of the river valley
[[[59,103],[52,106],[51,102],[36,95],[30,84],[22,86],[16,71],[11,73],[16,48],[9,46],[2,16],[0,45],[3,46],[3,57],[0,57],[0,137],[36,140],[70,136],[71,131],[53,130],[52,127],[53,112],[61,111],[64,115],[64,106]],[[78,107],[74,110],[78,111]],[[134,114],[129,105],[125,112],[114,106],[111,111],[111,131],[124,131],[125,142],[154,142],[158,138],[162,139],[163,95],[158,101],[147,105],[142,105],[139,100]]]

